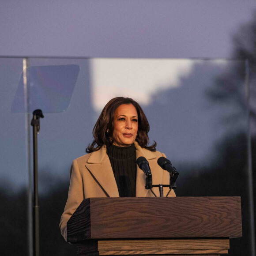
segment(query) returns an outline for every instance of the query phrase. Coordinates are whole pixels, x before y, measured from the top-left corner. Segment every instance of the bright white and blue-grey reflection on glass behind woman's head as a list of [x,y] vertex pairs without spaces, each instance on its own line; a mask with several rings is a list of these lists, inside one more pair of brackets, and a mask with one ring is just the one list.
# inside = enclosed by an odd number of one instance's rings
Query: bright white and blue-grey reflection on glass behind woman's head
[[[150,139],[160,151],[176,162],[202,164],[209,162],[214,143],[227,131],[246,128],[245,77],[237,77],[234,66],[244,67],[244,62],[93,59],[93,106],[100,112],[113,97],[134,98],[147,114]],[[227,73],[236,81],[234,91],[242,102],[231,95],[223,98],[219,87],[225,88],[221,77]]]

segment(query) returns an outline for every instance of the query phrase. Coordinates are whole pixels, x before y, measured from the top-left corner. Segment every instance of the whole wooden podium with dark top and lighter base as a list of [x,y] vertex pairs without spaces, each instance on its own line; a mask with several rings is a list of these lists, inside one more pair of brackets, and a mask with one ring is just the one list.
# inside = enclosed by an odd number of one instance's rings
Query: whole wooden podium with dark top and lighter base
[[240,197],[123,197],[83,200],[67,223],[78,255],[228,253],[241,237]]

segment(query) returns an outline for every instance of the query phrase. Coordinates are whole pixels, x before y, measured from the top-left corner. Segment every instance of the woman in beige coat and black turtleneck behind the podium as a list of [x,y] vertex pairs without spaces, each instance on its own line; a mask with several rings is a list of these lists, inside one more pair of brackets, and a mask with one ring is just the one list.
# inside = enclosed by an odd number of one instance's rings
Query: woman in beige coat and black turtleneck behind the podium
[[[68,200],[60,220],[67,241],[67,222],[79,204],[90,197],[154,196],[145,188],[146,175],[136,164],[143,156],[149,162],[154,184],[169,184],[169,173],[158,166],[164,156],[149,146],[149,123],[142,108],[132,98],[111,99],[103,108],[94,129],[88,154],[73,161]],[[165,190],[166,189],[166,190]],[[164,188],[164,195],[169,188]],[[158,188],[153,188],[159,196]],[[169,196],[175,196],[173,190]]]

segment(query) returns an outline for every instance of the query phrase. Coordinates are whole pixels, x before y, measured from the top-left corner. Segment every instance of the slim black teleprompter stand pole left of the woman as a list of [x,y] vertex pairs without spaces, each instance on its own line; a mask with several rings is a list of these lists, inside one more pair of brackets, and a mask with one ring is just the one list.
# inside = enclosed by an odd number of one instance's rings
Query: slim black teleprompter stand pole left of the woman
[[41,109],[33,112],[33,157],[34,157],[34,207],[33,207],[33,255],[39,256],[39,209],[38,209],[38,134],[40,117],[44,118]]

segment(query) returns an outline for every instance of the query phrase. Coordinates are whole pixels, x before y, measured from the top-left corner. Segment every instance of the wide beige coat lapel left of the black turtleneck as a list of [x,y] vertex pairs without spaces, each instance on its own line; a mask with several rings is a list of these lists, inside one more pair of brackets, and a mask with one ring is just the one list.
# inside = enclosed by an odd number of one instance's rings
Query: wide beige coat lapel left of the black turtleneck
[[106,153],[106,147],[93,152],[87,160],[87,169],[110,197],[119,197],[117,183]]

